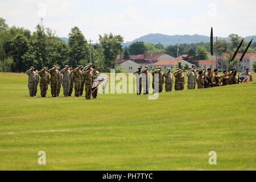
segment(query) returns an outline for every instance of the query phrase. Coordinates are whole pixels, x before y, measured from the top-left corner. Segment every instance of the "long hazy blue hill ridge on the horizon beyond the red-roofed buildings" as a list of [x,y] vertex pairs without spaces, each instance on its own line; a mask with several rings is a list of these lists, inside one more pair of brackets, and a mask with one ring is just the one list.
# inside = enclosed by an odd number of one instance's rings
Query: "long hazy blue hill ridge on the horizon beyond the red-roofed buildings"
[[[246,42],[250,42],[252,38],[256,38],[254,36],[247,36],[245,38]],[[229,38],[218,38],[219,40],[229,40]],[[255,40],[254,40],[255,41]],[[141,38],[135,39],[132,42],[123,43],[123,46],[130,46],[131,43],[134,42],[144,42],[144,43],[152,43],[157,44],[161,43],[164,46],[176,45],[176,44],[191,44],[191,43],[200,43],[200,42],[210,42],[209,36],[204,35],[164,35],[164,34],[148,34],[142,36]]]

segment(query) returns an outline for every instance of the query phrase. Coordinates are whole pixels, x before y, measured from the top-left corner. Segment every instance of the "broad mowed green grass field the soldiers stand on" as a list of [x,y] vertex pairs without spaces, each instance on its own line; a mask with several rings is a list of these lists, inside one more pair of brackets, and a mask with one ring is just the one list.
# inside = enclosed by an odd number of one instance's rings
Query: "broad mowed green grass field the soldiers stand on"
[[0,73],[0,169],[255,170],[255,90],[251,82],[86,101],[40,98],[39,89],[30,98],[27,75]]

